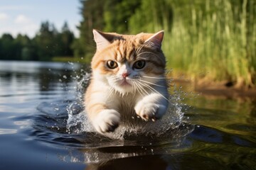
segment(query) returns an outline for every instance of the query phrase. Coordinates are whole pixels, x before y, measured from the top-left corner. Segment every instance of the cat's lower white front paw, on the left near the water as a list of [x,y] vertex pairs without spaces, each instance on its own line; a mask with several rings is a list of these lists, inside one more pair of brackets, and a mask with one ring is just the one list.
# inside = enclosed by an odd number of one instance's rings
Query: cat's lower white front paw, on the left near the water
[[113,132],[119,125],[120,117],[120,113],[114,109],[105,109],[98,113],[92,124],[97,132]]

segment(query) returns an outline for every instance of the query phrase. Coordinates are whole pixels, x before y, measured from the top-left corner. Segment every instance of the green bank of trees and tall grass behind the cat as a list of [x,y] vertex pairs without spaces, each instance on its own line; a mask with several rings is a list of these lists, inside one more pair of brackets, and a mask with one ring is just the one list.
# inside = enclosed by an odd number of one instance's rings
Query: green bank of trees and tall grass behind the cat
[[[81,0],[74,53],[90,60],[92,29],[116,33],[165,30],[168,68],[208,81],[256,84],[255,0]],[[210,73],[210,74],[208,74]]]

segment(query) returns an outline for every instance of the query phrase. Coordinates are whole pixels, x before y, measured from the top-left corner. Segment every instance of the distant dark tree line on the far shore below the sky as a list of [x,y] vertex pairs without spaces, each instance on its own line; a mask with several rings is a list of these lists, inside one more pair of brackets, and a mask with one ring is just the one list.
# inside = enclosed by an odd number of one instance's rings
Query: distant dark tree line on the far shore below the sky
[[49,61],[53,57],[73,57],[72,44],[75,40],[73,32],[64,23],[58,31],[53,23],[45,21],[35,37],[18,34],[14,38],[5,33],[0,38],[1,60],[40,60]]

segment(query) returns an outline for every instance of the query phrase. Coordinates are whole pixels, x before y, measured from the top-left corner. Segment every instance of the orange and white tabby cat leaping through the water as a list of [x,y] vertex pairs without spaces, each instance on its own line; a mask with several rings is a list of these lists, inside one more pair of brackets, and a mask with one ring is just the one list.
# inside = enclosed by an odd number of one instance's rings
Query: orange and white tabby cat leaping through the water
[[161,51],[164,30],[121,35],[93,30],[97,50],[85,91],[85,111],[100,134],[120,124],[160,119],[169,106],[166,58]]

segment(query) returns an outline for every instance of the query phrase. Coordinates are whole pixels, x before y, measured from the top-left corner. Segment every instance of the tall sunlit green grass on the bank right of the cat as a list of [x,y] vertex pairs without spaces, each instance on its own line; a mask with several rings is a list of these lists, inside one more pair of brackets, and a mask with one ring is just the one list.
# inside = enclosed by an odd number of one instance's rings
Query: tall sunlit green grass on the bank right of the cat
[[153,24],[146,31],[167,30],[162,48],[169,68],[208,81],[256,84],[256,1],[165,2],[173,9],[173,22],[164,10],[157,20],[156,8],[165,6],[151,0],[147,15]]

